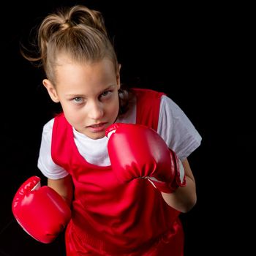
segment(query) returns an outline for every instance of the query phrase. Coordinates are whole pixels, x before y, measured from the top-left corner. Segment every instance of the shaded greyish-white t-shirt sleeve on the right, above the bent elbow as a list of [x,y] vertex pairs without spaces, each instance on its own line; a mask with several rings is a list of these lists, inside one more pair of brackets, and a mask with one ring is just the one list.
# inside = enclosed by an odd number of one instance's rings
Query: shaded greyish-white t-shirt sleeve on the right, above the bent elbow
[[202,140],[184,111],[165,95],[161,97],[157,132],[181,161],[195,151]]

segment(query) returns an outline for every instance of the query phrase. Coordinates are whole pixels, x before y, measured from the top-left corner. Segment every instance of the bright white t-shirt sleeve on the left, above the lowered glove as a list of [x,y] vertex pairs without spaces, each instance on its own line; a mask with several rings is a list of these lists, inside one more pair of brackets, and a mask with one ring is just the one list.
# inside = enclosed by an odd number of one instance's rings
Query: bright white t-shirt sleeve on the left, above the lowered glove
[[64,178],[69,173],[63,167],[56,165],[51,157],[51,137],[53,133],[54,118],[48,121],[42,129],[42,140],[39,150],[39,158],[37,167],[41,170],[42,174],[51,179]]

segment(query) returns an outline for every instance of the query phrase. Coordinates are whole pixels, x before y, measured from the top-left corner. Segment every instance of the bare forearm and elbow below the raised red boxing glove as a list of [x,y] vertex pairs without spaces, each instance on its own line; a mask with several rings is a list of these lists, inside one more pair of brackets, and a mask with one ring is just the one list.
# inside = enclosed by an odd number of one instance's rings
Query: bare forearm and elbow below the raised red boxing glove
[[169,206],[185,213],[195,206],[197,195],[195,189],[195,178],[188,160],[184,159],[182,164],[184,166],[187,181],[186,187],[178,187],[178,189],[173,193],[162,192],[162,197]]

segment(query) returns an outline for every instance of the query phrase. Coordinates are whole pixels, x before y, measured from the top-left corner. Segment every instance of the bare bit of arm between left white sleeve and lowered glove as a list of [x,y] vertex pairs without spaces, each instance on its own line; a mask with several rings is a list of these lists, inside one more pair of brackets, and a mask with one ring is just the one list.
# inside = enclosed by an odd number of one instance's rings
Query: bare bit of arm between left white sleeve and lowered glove
[[73,182],[70,175],[59,178],[59,179],[50,179],[48,178],[48,187],[51,187],[56,192],[58,192],[61,197],[67,202],[70,206],[73,199]]

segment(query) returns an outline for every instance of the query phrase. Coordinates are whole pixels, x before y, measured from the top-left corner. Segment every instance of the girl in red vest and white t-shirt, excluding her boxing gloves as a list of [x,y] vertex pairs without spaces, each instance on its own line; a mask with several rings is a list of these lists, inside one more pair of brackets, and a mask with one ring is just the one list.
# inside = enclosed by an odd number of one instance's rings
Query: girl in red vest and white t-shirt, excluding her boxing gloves
[[[38,167],[72,211],[67,255],[183,255],[178,216],[196,203],[187,157],[201,140],[189,118],[163,93],[121,87],[121,66],[98,11],[77,5],[48,15],[38,44],[39,56],[23,56],[42,62],[42,83],[63,110],[43,128]],[[186,186],[161,189],[156,177],[119,182],[105,136],[113,123],[157,131],[181,160]]]

